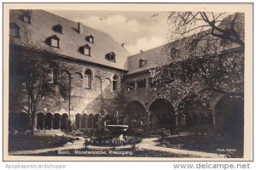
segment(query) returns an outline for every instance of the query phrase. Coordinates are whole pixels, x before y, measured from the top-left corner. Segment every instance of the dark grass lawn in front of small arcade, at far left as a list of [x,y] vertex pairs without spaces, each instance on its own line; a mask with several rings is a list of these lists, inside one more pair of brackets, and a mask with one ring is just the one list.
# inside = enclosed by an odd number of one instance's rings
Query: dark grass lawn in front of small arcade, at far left
[[63,136],[9,134],[9,151],[54,148],[67,142],[72,142],[72,139]]

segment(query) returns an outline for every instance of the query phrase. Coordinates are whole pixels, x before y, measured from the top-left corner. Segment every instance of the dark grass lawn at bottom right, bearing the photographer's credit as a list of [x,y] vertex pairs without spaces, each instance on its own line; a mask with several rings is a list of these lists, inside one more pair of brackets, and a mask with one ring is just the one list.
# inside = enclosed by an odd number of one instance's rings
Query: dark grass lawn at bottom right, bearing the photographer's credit
[[[243,139],[218,135],[189,135],[160,140],[160,146],[243,156]],[[234,152],[234,150],[236,150]],[[233,152],[233,153],[232,153]]]

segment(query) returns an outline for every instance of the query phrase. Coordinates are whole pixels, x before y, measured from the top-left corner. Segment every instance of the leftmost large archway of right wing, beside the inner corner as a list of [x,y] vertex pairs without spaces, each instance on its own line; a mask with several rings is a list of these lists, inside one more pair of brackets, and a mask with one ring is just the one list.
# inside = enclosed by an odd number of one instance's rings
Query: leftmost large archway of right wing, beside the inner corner
[[125,123],[128,123],[129,127],[140,127],[141,122],[148,121],[147,111],[143,104],[139,101],[132,101],[125,107]]

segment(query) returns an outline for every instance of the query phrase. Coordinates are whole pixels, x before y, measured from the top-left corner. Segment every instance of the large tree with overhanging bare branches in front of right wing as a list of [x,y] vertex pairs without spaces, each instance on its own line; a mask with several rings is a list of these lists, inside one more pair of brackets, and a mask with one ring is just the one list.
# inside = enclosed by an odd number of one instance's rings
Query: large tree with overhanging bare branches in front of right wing
[[163,50],[170,63],[151,70],[154,87],[243,97],[244,14],[171,12],[167,20],[170,42]]

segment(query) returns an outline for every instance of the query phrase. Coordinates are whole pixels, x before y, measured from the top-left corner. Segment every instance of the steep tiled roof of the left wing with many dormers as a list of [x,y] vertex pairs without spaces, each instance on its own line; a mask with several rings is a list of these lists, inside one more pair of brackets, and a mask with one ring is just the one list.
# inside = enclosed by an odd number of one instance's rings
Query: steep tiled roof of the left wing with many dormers
[[[23,21],[26,10],[10,10],[10,23],[20,26],[20,32],[27,29],[31,33],[34,42],[42,43],[42,47],[49,48],[45,42],[48,37],[56,35],[60,38],[60,48],[55,48],[55,53],[74,59],[83,59],[92,63],[107,65],[113,68],[127,70],[127,57],[129,52],[115,42],[108,34],[83,26],[83,33],[78,32],[78,23],[50,14],[44,10],[32,10],[31,24]],[[53,27],[62,26],[62,33],[54,31]],[[94,37],[94,43],[85,40],[88,36]],[[21,35],[22,38],[22,35]],[[12,42],[19,44],[19,38],[13,38]],[[79,48],[88,44],[90,46],[90,56],[81,54]],[[106,54],[110,52],[116,54],[115,62],[106,59]]]

